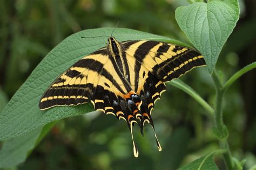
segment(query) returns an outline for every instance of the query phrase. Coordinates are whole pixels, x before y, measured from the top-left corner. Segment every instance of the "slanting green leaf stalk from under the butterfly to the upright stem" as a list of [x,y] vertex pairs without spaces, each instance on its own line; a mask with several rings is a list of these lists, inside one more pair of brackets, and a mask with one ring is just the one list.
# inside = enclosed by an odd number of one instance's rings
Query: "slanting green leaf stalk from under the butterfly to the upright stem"
[[194,98],[194,100],[196,100],[199,104],[201,104],[201,106],[205,108],[205,110],[207,110],[211,116],[214,115],[214,110],[212,109],[212,107],[203,98],[201,98],[201,96],[196,91],[194,91],[194,89],[192,89],[183,81],[175,79],[170,82],[167,82],[167,84],[171,84],[172,86],[183,90],[185,93]]

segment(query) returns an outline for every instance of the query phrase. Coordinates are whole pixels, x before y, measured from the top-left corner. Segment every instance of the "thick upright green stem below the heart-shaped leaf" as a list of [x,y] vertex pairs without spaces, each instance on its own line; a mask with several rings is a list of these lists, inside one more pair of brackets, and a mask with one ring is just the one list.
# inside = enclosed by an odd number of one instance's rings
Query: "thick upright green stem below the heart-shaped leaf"
[[[214,115],[214,122],[217,127],[217,129],[220,131],[221,136],[225,136],[224,134],[224,122],[223,122],[223,110],[222,110],[222,105],[223,105],[223,96],[224,96],[224,89],[223,89],[223,84],[220,82],[218,74],[213,72],[212,74],[212,79],[215,84],[215,89],[216,89],[216,105],[215,105],[215,115]],[[233,169],[233,160],[232,160],[232,155],[230,152],[230,147],[228,146],[227,138],[221,138],[219,139],[219,146],[221,149],[225,149],[227,152],[223,153],[225,164],[227,169]]]

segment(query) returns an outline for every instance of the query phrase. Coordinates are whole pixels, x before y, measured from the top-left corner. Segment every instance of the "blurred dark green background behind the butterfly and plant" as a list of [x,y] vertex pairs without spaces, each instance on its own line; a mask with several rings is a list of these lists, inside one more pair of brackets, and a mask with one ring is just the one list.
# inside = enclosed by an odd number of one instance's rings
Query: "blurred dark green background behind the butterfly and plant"
[[[44,56],[70,34],[97,27],[126,27],[188,42],[174,18],[182,0],[0,0],[0,111]],[[256,1],[240,1],[241,15],[217,63],[226,80],[256,59]],[[106,35],[109,36],[109,35]],[[118,39],[118,37],[116,37]],[[189,42],[188,42],[189,43]],[[224,121],[233,155],[256,164],[256,74],[242,76],[226,93]],[[206,68],[181,77],[213,106],[214,86]],[[59,121],[18,169],[177,169],[218,149],[205,110],[183,91],[167,87],[152,115],[163,147],[150,126],[134,137],[124,121],[102,113]],[[224,168],[221,158],[215,162]],[[245,167],[245,169],[246,169]]]

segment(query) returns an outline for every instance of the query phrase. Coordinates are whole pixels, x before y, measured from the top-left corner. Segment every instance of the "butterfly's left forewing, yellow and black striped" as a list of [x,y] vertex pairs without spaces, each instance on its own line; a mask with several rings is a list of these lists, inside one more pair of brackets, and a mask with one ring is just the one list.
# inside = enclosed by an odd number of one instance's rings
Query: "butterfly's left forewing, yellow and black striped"
[[87,103],[95,95],[103,64],[107,60],[106,49],[100,49],[78,60],[60,75],[45,91],[39,108],[44,110],[56,105],[78,105]]

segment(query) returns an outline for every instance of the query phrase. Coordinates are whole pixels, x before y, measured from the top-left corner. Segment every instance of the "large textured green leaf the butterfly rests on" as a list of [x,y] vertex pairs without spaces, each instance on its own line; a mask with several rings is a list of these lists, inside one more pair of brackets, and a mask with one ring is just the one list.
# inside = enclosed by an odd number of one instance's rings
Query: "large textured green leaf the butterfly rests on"
[[[42,111],[38,108],[38,102],[41,95],[58,75],[83,56],[106,46],[106,38],[83,39],[81,36],[110,36],[112,31],[113,28],[80,31],[72,34],[53,48],[33,70],[28,80],[19,88],[0,114],[0,140],[15,138],[39,126],[65,117],[78,116],[93,111],[90,103],[75,107],[55,107]],[[119,41],[136,39],[171,41],[165,37],[130,29],[116,29],[113,35]]]

